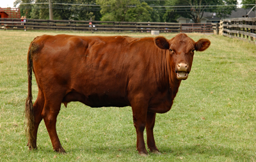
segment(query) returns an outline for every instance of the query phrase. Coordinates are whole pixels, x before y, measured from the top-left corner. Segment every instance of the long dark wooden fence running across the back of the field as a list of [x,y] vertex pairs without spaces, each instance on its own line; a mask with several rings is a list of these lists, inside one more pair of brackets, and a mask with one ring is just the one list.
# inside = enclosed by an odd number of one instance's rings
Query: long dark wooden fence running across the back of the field
[[[92,24],[89,24],[92,22]],[[0,18],[2,29],[26,30],[72,30],[72,31],[115,31],[115,32],[150,32],[160,33],[213,33],[211,24],[179,24],[172,22],[110,22],[90,20],[41,20],[20,18]]]

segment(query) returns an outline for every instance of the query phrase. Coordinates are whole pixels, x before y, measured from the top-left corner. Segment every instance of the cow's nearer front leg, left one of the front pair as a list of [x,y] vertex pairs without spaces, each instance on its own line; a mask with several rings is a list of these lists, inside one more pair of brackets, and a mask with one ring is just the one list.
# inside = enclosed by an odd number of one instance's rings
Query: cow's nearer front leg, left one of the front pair
[[133,124],[137,133],[137,150],[141,156],[147,156],[143,132],[147,121],[147,108],[132,107]]

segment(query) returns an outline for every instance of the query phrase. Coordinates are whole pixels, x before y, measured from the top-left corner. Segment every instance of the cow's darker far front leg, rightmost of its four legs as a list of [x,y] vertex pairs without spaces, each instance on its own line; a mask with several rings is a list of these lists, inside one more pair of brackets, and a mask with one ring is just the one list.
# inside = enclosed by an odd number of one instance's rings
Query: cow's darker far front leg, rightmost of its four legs
[[156,113],[147,112],[147,124],[146,124],[147,145],[148,145],[148,149],[150,149],[150,151],[153,152],[154,154],[161,154],[156,147],[156,142],[153,134],[155,120],[156,120]]

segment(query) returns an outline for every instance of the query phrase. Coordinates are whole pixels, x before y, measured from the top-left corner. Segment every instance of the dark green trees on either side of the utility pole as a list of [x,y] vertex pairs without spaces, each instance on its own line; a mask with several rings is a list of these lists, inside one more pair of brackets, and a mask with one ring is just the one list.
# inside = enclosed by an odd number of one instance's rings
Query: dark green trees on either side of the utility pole
[[[49,4],[45,0],[16,0],[20,3],[21,13],[26,13],[27,18],[49,19]],[[35,4],[23,4],[35,3]],[[36,4],[38,3],[38,4]],[[44,4],[45,3],[45,4]],[[99,20],[100,11],[93,6],[83,6],[82,4],[95,4],[95,0],[66,0],[64,4],[60,0],[52,0],[52,12],[55,20]],[[81,4],[66,5],[66,4]]]

